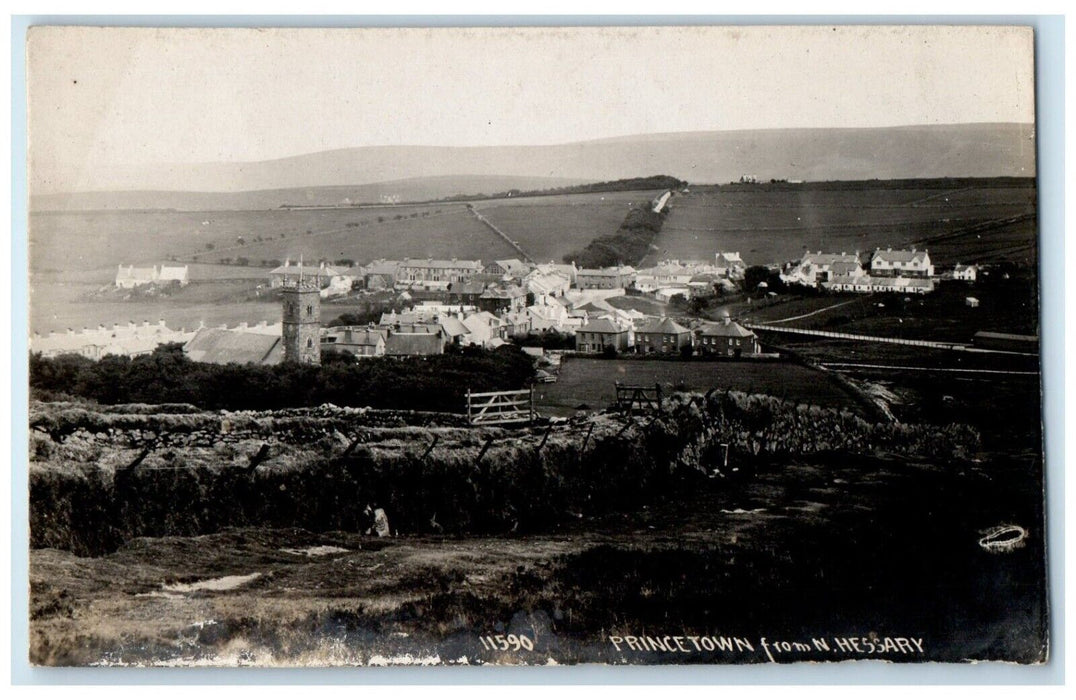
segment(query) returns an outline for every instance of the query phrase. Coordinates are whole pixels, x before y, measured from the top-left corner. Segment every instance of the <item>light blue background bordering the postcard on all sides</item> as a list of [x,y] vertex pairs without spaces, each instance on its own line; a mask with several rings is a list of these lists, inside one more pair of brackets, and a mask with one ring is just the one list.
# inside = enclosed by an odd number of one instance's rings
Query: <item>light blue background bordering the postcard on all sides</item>
[[[1050,662],[752,667],[435,669],[37,669],[27,662],[26,30],[32,25],[181,27],[981,24],[1035,29],[1042,354],[1046,426]],[[12,17],[12,683],[22,684],[1060,684],[1064,682],[1064,18],[1061,16],[13,16]]]

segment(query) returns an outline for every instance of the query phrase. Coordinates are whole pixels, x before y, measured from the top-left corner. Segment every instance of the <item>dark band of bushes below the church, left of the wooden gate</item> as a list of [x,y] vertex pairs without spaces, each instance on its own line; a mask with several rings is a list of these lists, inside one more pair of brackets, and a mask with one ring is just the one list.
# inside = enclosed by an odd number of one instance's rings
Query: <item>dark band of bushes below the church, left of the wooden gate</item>
[[458,413],[468,389],[518,389],[533,373],[530,358],[512,345],[320,367],[264,367],[194,362],[181,346],[171,344],[133,359],[33,355],[30,390],[38,399],[63,394],[104,404],[189,403],[202,409],[264,411],[332,403]]

